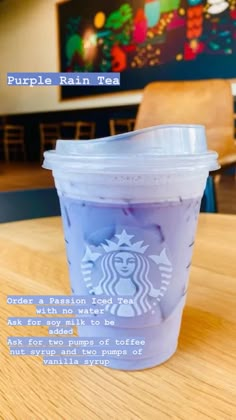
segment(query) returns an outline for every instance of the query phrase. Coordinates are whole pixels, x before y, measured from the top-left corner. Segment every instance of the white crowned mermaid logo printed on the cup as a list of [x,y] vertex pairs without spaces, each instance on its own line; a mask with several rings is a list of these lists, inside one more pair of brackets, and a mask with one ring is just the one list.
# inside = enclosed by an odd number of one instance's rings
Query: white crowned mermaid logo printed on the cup
[[[101,243],[103,253],[92,252],[87,246],[81,265],[84,281],[89,293],[130,297],[130,305],[106,305],[111,314],[124,317],[143,315],[165,295],[172,276],[172,264],[165,248],[160,255],[146,255],[149,245],[143,245],[143,241],[132,243],[134,235],[129,235],[125,229],[115,237],[118,240]],[[95,262],[96,273],[100,273],[97,286],[92,281]],[[151,269],[155,270],[152,277],[159,287],[154,287],[149,279]]]

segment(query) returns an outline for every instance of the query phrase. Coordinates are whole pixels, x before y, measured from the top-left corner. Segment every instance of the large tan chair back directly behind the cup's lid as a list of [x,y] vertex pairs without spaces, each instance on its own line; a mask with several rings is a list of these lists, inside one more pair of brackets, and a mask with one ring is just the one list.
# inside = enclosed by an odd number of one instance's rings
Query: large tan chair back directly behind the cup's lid
[[159,124],[201,124],[219,157],[236,152],[229,80],[154,82],[143,92],[135,129]]

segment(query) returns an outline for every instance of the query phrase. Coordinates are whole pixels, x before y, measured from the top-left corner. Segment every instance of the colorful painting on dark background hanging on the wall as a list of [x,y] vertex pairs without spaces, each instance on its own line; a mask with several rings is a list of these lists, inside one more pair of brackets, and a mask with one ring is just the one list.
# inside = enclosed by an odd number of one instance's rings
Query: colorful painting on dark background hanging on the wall
[[[236,77],[236,0],[72,0],[58,5],[58,17],[60,71],[120,72],[110,91]],[[66,87],[62,97],[95,91]]]

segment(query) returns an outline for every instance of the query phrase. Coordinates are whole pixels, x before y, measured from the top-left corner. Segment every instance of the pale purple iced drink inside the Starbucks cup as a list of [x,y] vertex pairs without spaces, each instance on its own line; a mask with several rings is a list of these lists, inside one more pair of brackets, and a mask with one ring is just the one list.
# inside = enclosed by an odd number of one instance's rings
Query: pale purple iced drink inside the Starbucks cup
[[72,292],[132,301],[105,306],[114,327],[79,327],[79,334],[145,338],[142,356],[110,357],[109,367],[143,369],[175,352],[200,202],[108,205],[60,197]]

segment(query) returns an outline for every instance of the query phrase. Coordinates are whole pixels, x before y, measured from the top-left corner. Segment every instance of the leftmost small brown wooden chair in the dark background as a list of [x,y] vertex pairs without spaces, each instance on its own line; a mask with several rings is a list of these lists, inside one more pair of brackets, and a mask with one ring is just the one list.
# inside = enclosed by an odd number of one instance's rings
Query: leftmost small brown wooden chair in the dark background
[[20,149],[24,160],[26,160],[25,131],[22,125],[6,124],[3,126],[3,149],[6,162],[9,162],[12,150],[16,151],[17,149]]

